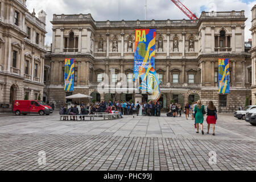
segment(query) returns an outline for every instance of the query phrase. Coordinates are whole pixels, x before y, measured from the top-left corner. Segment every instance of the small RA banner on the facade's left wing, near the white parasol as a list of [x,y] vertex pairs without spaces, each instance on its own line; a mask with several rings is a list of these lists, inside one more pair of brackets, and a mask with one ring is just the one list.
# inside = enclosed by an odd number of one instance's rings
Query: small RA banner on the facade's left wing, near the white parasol
[[74,91],[74,72],[75,72],[75,61],[74,59],[65,59],[65,77],[64,77],[64,90]]

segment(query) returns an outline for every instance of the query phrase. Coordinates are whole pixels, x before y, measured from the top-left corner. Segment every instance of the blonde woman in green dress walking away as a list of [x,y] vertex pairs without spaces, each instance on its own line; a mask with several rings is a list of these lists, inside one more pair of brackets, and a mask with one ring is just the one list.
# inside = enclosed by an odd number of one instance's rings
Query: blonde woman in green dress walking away
[[197,101],[197,105],[195,106],[194,110],[195,110],[196,129],[197,129],[196,133],[199,133],[199,123],[200,123],[202,134],[204,134],[204,130],[203,130],[204,129],[203,128],[204,114],[203,114],[203,111],[205,113],[205,110],[204,110],[204,105],[202,105],[201,100]]

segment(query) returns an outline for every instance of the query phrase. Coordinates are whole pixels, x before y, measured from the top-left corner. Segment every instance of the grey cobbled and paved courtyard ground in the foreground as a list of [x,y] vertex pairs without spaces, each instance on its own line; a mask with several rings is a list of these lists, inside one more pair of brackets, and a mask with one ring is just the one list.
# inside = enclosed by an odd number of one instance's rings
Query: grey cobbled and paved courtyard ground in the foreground
[[[1,170],[255,170],[256,127],[219,114],[216,136],[193,121],[125,116],[59,121],[58,115],[0,117]],[[212,131],[210,130],[210,133]],[[46,164],[40,165],[40,151]],[[216,164],[212,164],[217,154]]]

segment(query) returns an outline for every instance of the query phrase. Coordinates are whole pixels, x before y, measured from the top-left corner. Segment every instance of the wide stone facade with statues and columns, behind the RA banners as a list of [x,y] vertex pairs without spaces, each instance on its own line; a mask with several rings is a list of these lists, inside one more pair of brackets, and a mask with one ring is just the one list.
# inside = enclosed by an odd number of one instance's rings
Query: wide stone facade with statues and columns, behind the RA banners
[[[244,11],[202,12],[198,20],[95,21],[90,14],[53,15],[52,49],[46,56],[49,102],[84,93],[96,100],[134,100],[135,94],[97,93],[102,73],[118,82],[118,73],[132,80],[135,29],[156,29],[155,69],[163,107],[213,100],[221,112],[233,112],[251,98],[251,56],[245,51]],[[64,92],[64,59],[75,59],[75,90]],[[218,94],[218,59],[230,59],[230,93]],[[113,74],[114,70],[114,74]],[[110,75],[112,73],[112,75]],[[147,100],[147,95],[142,96]]]

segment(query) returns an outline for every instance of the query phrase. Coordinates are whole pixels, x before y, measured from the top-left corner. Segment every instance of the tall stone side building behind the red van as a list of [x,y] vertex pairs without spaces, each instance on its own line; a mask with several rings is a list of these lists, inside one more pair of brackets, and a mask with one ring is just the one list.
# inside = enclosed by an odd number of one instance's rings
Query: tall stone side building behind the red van
[[0,1],[0,103],[43,97],[46,13],[25,0]]

